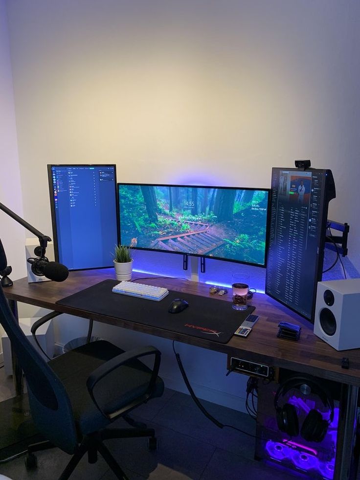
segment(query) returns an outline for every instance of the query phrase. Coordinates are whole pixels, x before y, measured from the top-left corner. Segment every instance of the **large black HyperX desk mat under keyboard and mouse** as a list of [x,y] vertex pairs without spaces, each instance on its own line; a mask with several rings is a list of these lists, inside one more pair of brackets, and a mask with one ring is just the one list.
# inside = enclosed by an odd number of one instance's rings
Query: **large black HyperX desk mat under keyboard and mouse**
[[[112,293],[112,287],[118,283],[104,280],[56,303],[218,343],[227,343],[255,309],[248,307],[246,311],[237,311],[231,308],[230,302],[173,290],[159,302]],[[180,313],[169,313],[167,310],[174,298],[184,298],[189,306]]]

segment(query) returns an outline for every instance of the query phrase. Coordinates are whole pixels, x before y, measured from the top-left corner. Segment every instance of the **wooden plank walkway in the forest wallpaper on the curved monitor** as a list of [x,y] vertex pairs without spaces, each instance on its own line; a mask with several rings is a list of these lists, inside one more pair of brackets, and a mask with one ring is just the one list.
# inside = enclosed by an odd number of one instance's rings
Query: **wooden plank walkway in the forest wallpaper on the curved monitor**
[[152,242],[152,248],[204,255],[225,243],[222,238],[209,233],[209,224],[201,222],[186,223],[192,226],[192,231],[159,237]]

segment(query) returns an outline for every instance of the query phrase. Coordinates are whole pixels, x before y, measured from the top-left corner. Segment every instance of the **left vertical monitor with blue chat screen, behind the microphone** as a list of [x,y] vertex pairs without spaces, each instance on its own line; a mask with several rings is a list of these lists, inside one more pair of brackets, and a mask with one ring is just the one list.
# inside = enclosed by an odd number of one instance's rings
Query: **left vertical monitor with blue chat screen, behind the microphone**
[[112,265],[118,243],[115,165],[47,165],[56,261],[69,270]]

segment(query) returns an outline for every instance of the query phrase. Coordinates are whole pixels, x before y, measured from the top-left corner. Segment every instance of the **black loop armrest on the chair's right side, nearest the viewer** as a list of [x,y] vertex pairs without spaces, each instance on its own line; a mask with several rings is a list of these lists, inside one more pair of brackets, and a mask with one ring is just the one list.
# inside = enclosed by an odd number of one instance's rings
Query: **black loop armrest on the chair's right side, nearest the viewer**
[[[140,347],[140,348],[134,348],[133,350],[129,350],[128,352],[121,353],[120,355],[117,355],[116,357],[113,357],[111,360],[108,362],[104,363],[103,365],[97,367],[88,377],[88,380],[86,382],[86,386],[88,388],[88,391],[90,393],[90,397],[96,407],[108,418],[114,418],[115,416],[119,415],[122,413],[124,410],[128,410],[128,407],[126,409],[122,409],[121,411],[116,411],[113,413],[105,413],[103,409],[100,407],[98,402],[96,401],[95,395],[94,395],[94,388],[100,380],[102,380],[104,377],[106,377],[109,373],[111,373],[113,370],[118,368],[119,366],[124,365],[125,363],[129,362],[130,360],[135,360],[139,359],[141,357],[145,357],[148,355],[155,355],[155,360],[154,360],[154,366],[152,369],[150,381],[148,388],[145,392],[145,395],[141,399],[141,402],[136,402],[137,403],[143,403],[145,402],[148,398],[150,398],[150,395],[155,387],[156,380],[158,378],[158,371],[160,367],[160,357],[161,357],[161,352],[149,345],[145,347]],[[135,405],[134,405],[135,406]]]

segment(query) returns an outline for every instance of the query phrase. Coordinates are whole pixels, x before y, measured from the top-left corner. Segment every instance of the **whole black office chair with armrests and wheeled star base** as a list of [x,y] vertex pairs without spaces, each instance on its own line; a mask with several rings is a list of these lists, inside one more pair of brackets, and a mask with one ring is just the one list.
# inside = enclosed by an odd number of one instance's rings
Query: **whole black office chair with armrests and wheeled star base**
[[[124,352],[100,340],[46,363],[23,334],[1,286],[0,323],[24,371],[32,419],[46,439],[28,447],[27,466],[36,466],[35,451],[59,447],[73,455],[60,476],[65,480],[86,452],[90,463],[96,462],[99,452],[117,478],[128,480],[103,440],[148,436],[150,448],[156,448],[155,431],[146,425],[106,427],[150,398],[162,395],[158,349],[147,346]],[[138,360],[149,355],[154,356],[152,370]]]

